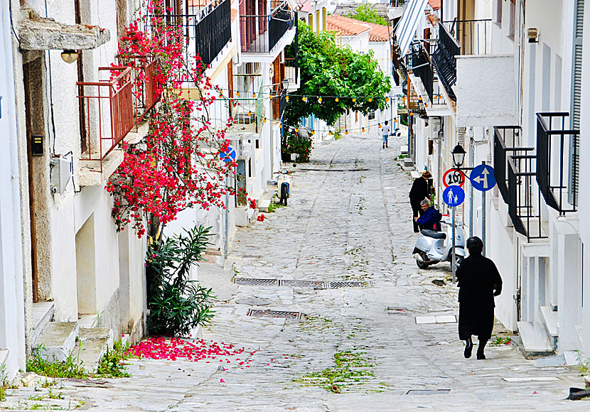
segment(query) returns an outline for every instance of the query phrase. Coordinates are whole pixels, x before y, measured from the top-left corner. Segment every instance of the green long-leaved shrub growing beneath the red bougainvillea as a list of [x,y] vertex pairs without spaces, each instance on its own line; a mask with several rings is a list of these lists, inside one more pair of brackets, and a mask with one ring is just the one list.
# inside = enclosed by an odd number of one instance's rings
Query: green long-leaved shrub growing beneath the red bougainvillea
[[211,289],[189,279],[193,264],[203,261],[210,227],[185,230],[186,236],[168,237],[146,256],[148,329],[152,335],[188,335],[193,327],[213,318]]

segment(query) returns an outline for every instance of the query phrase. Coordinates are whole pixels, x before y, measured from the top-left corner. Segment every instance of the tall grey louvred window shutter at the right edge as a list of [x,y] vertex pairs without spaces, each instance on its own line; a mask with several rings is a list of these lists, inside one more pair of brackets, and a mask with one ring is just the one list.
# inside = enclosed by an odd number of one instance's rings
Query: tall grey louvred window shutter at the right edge
[[[574,50],[572,64],[572,129],[580,129],[581,106],[581,60],[582,36],[584,34],[584,0],[576,1],[574,18]],[[569,178],[567,185],[567,201],[572,205],[578,203],[579,185],[579,135],[572,135],[569,141]]]

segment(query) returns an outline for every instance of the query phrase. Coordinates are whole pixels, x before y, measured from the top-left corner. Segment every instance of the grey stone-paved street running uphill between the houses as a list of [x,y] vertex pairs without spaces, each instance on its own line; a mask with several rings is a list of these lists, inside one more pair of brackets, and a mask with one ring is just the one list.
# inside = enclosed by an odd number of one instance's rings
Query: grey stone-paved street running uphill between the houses
[[[296,173],[289,207],[237,232],[235,273],[200,270],[227,299],[203,338],[259,348],[250,363],[134,361],[134,376],[110,388],[65,383],[63,402],[83,400],[92,411],[589,410],[588,401],[564,401],[569,386],[583,386],[576,368],[542,366],[515,346],[490,347],[485,361],[463,359],[456,323],[416,323],[456,314],[457,293],[431,282],[445,280],[449,264],[423,271],[412,259],[411,178],[394,160],[402,142],[392,143],[384,151],[375,137],[351,136],[317,147]],[[238,286],[234,274],[372,287]],[[306,318],[254,318],[252,308]],[[437,389],[449,391],[412,392]]]

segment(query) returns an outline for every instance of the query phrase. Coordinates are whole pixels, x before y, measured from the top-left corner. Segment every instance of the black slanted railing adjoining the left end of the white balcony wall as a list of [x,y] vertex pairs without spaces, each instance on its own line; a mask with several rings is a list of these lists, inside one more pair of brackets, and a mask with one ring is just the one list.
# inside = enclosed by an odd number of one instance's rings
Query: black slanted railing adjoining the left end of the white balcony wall
[[456,100],[451,87],[457,81],[457,64],[455,56],[461,53],[461,47],[446,30],[444,24],[439,23],[439,40],[436,40],[436,48],[432,53],[432,63],[436,67],[439,81],[443,84],[451,99]]

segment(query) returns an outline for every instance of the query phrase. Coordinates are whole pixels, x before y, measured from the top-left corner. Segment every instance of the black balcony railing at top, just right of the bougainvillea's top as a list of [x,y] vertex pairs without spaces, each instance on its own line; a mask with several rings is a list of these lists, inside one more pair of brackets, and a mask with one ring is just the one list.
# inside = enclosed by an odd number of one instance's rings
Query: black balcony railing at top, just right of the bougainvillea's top
[[231,0],[213,0],[195,14],[157,14],[153,17],[159,23],[151,21],[152,25],[181,26],[186,40],[185,60],[190,65],[198,55],[207,67],[232,37]]

